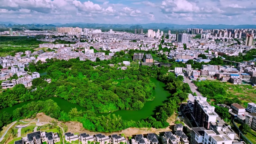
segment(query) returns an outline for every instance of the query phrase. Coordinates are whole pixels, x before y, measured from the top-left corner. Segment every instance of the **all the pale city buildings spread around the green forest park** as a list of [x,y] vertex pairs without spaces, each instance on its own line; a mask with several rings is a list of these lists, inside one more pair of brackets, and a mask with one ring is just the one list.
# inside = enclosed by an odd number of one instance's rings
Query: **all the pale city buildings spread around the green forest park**
[[[145,32],[145,30],[144,30]],[[9,31],[0,32],[0,34],[9,34],[10,36],[42,36],[38,41],[46,42],[39,44],[37,51],[18,52],[15,56],[1,57],[0,62],[3,69],[0,72],[0,80],[3,82],[3,89],[13,88],[16,84],[23,84],[25,87],[32,86],[32,80],[40,77],[37,72],[30,73],[25,71],[30,63],[47,62],[47,59],[69,60],[79,58],[80,61],[97,61],[97,59],[108,60],[115,56],[116,52],[128,50],[143,50],[143,53],[134,53],[133,60],[140,65],[158,65],[159,67],[171,67],[171,63],[163,63],[155,60],[147,51],[157,51],[160,55],[165,55],[167,59],[175,59],[176,62],[185,63],[189,60],[208,63],[212,58],[223,55],[239,56],[245,55],[248,50],[255,49],[253,38],[256,37],[256,29],[221,29],[221,30],[203,30],[199,28],[188,28],[183,33],[171,34],[152,29],[144,33],[143,29],[135,29],[134,33],[120,32],[110,30],[101,32],[92,28],[72,28],[57,27],[45,31]],[[200,37],[198,37],[200,36]],[[57,40],[70,42],[52,43]],[[159,50],[160,48],[170,49],[170,52]],[[42,49],[41,49],[42,48]],[[48,50],[50,49],[50,50]],[[46,51],[47,50],[47,51]],[[103,52],[105,51],[105,52]],[[106,51],[109,51],[106,54]],[[205,55],[203,59],[198,57]],[[234,61],[231,61],[234,62]],[[210,65],[204,64],[200,69],[193,69],[191,64],[186,67],[175,67],[176,76],[183,76],[190,81],[199,77],[215,77],[222,82],[231,82],[233,84],[250,83],[256,85],[256,67],[254,61],[235,62],[233,65]],[[130,65],[129,61],[120,64],[122,70]],[[10,79],[16,74],[18,79]],[[48,83],[51,79],[45,79]],[[249,103],[247,109],[239,104],[231,104],[231,107],[220,104],[220,107],[229,108],[229,113],[237,117],[240,121],[248,124],[256,130],[256,104]],[[231,126],[214,112],[214,106],[207,102],[203,96],[192,96],[183,111],[189,111],[198,127],[182,124],[174,125],[173,131],[162,132],[162,135],[149,133],[147,135],[135,135],[130,140],[120,135],[105,136],[102,134],[89,135],[64,134],[65,141],[80,141],[82,144],[90,142],[98,144],[244,144],[239,138],[239,134],[232,130]],[[180,113],[181,114],[181,113]],[[189,131],[189,137],[183,130]],[[60,142],[60,135],[55,132],[36,131],[27,134],[21,140],[14,144],[41,144],[47,142],[54,144]]]

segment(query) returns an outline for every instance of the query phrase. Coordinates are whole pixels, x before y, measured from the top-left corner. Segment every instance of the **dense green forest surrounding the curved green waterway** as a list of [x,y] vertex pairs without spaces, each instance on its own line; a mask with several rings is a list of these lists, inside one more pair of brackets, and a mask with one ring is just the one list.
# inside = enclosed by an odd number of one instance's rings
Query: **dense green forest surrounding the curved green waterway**
[[[98,62],[68,61],[47,59],[47,63],[30,65],[31,71],[39,68],[47,68],[48,75],[34,79],[31,91],[24,85],[16,85],[13,89],[7,89],[0,94],[0,107],[12,106],[18,101],[31,99],[43,99],[51,96],[59,96],[74,104],[86,107],[86,111],[77,111],[73,108],[69,113],[61,111],[52,100],[47,102],[31,102],[13,111],[13,114],[0,114],[0,125],[6,125],[14,120],[30,118],[36,113],[45,114],[61,121],[78,121],[84,128],[97,132],[120,131],[129,127],[165,128],[169,124],[168,117],[174,114],[179,103],[187,99],[191,90],[187,83],[183,83],[183,77],[176,77],[174,73],[168,73],[166,67],[141,66],[139,69],[128,67],[127,70],[118,70],[108,64],[117,64],[124,57],[114,57],[111,60]],[[128,60],[131,60],[129,57]],[[100,65],[98,67],[95,67]],[[52,82],[43,80],[51,76]],[[171,92],[170,98],[158,108],[155,115],[140,121],[125,121],[121,117],[110,114],[96,117],[95,113],[107,113],[115,110],[138,110],[143,104],[153,99],[152,89],[155,85],[147,76],[156,77],[166,84],[166,89]],[[4,118],[3,118],[4,117]]]

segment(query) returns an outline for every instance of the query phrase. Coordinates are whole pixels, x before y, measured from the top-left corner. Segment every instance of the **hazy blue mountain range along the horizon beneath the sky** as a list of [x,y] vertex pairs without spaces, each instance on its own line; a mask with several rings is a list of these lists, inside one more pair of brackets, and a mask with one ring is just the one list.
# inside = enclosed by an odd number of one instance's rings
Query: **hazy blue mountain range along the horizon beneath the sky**
[[99,28],[99,29],[186,29],[186,28],[202,28],[202,29],[236,29],[236,28],[256,28],[256,25],[208,25],[208,24],[165,24],[165,23],[150,23],[150,24],[89,24],[89,23],[69,23],[69,24],[18,24],[15,22],[0,22],[0,28],[20,28],[20,29],[52,29],[53,27],[81,27],[81,28]]

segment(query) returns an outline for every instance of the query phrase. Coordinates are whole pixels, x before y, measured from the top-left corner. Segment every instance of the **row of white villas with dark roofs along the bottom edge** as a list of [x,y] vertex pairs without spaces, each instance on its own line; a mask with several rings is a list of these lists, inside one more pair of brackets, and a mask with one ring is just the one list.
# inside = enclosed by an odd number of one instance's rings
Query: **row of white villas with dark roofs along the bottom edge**
[[[188,136],[184,134],[182,124],[174,125],[173,131],[164,132],[161,137],[154,133],[147,135],[137,134],[130,141],[124,136],[117,134],[106,136],[103,134],[89,135],[86,133],[74,134],[71,132],[65,133],[64,139],[68,143],[79,141],[82,144],[88,144],[88,142],[97,142],[99,144],[189,144]],[[14,144],[42,144],[43,142],[47,144],[60,142],[60,135],[57,132],[37,131],[27,134],[26,137],[15,141]]]

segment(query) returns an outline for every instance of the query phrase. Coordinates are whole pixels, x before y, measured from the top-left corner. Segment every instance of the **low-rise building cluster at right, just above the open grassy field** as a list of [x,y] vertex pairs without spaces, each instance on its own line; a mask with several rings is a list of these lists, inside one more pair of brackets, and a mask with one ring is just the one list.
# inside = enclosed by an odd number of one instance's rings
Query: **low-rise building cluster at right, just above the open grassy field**
[[233,84],[252,83],[256,85],[256,67],[254,62],[243,61],[238,63],[237,68],[230,65],[202,65],[200,70],[193,69],[191,64],[186,64],[186,67],[176,67],[174,72],[177,76],[184,76],[184,72],[191,78],[197,79],[203,76],[216,77],[222,82],[231,82]]

